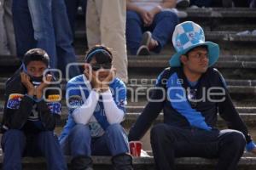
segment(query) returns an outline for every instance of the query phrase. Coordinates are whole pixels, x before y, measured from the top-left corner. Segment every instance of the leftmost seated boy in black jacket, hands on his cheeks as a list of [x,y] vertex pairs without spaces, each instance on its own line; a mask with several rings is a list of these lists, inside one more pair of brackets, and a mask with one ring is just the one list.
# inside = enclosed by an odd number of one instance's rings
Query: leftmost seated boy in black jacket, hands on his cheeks
[[[43,49],[26,52],[23,64],[6,82],[3,111],[3,169],[20,169],[22,156],[44,156],[50,170],[67,169],[58,139],[55,121],[61,114],[59,84],[44,71],[49,56]],[[52,89],[47,89],[52,88]]]

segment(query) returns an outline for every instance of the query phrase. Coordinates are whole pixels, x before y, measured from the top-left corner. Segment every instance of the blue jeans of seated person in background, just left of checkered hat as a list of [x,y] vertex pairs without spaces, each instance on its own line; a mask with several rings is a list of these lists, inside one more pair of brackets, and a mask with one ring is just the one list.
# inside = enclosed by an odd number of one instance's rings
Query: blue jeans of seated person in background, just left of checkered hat
[[159,46],[154,48],[155,53],[166,45],[172,37],[172,32],[178,23],[177,14],[172,11],[162,11],[154,16],[151,26],[144,27],[140,14],[135,11],[127,11],[126,13],[126,43],[131,54],[137,54],[144,31],[151,31],[154,40],[159,42]]

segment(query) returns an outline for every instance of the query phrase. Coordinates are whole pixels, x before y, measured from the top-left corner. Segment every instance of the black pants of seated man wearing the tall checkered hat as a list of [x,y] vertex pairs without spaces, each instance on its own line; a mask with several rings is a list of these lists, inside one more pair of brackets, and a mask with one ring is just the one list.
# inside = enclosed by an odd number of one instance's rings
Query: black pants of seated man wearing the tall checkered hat
[[157,170],[173,170],[175,157],[218,158],[216,169],[235,170],[246,140],[236,130],[184,129],[164,123],[151,130],[151,146]]

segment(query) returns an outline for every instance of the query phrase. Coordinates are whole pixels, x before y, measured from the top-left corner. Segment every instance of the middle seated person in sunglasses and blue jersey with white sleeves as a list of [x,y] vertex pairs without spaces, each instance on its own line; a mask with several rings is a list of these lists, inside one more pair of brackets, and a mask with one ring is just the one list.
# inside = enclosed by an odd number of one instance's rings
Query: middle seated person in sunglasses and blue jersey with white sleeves
[[92,169],[91,156],[113,156],[114,169],[132,169],[128,139],[120,125],[126,88],[115,77],[112,58],[106,47],[91,48],[84,74],[67,82],[69,116],[60,143],[64,154],[73,157],[73,169]]

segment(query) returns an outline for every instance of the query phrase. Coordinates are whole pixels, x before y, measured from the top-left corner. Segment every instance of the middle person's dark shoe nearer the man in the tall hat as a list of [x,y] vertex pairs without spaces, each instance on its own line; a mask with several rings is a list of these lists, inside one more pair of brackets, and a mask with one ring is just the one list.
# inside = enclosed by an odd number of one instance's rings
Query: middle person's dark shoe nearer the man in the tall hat
[[112,157],[113,170],[133,170],[132,157],[128,154],[119,154]]

